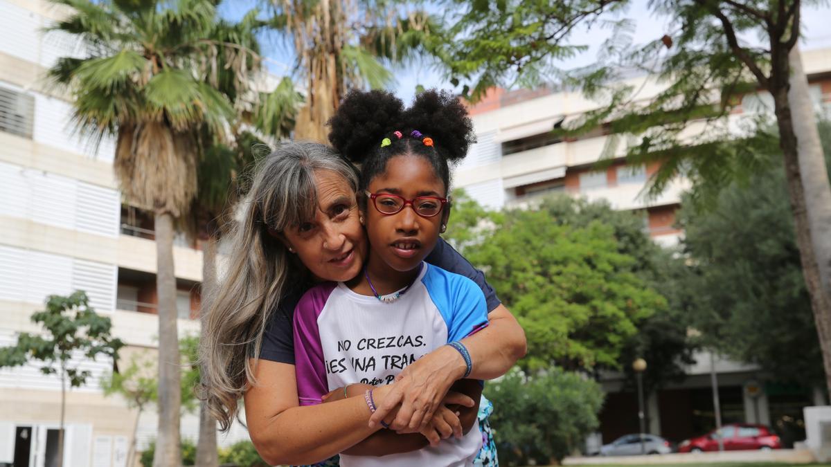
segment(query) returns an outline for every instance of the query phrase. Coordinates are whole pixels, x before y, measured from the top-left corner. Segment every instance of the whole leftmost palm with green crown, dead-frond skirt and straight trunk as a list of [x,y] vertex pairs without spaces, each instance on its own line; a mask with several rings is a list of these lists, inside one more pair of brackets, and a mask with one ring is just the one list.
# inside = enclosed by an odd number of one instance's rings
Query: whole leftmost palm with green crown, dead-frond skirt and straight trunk
[[81,135],[116,137],[116,178],[125,199],[155,216],[159,297],[159,427],[153,464],[181,463],[179,342],[173,264],[175,219],[197,192],[199,129],[223,135],[234,108],[217,90],[218,57],[243,72],[250,51],[211,37],[209,0],[51,0],[71,7],[52,30],[86,44],[85,58],[49,70],[74,101]]

